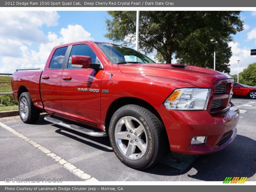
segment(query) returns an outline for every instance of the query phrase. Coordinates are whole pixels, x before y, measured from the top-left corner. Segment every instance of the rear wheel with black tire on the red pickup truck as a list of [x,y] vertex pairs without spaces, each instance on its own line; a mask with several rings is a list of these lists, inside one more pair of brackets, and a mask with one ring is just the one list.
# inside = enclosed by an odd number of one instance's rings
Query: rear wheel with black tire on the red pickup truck
[[[27,104],[27,107],[22,103],[22,101],[25,101],[25,104]],[[26,109],[26,113],[22,111],[22,109]],[[32,124],[35,123],[40,115],[40,111],[37,110],[32,102],[32,99],[28,92],[23,92],[20,95],[19,98],[19,114],[20,118],[24,123]]]

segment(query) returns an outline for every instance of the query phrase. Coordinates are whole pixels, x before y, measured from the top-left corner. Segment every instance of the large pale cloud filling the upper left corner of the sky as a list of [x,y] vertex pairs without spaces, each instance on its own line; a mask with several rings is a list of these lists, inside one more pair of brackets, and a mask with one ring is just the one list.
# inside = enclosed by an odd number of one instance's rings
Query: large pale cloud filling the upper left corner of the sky
[[20,46],[47,42],[43,25],[58,25],[57,12],[0,12],[0,56],[20,57]]

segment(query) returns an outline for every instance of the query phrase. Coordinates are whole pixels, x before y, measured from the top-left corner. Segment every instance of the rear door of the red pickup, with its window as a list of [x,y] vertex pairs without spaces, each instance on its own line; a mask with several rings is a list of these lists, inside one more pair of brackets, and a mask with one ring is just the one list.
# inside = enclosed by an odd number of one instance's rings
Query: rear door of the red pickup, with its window
[[48,68],[45,68],[41,75],[41,97],[44,109],[52,113],[62,113],[60,101],[60,79],[64,68],[68,46],[57,48],[50,61]]

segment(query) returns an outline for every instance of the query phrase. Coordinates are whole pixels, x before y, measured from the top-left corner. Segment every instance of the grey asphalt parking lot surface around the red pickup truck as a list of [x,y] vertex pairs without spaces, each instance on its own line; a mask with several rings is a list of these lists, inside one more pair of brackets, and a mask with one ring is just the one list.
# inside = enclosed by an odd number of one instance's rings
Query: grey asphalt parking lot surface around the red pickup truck
[[[24,124],[19,116],[0,118],[5,125],[0,124],[0,180],[223,181],[238,176],[256,181],[256,100],[232,98],[232,102],[241,111],[234,142],[220,152],[197,157],[185,171],[161,163],[143,171],[131,169],[116,158],[107,137],[62,128],[44,121],[45,115],[36,124]],[[84,178],[54,160],[47,150],[70,163],[69,167],[85,172]]]

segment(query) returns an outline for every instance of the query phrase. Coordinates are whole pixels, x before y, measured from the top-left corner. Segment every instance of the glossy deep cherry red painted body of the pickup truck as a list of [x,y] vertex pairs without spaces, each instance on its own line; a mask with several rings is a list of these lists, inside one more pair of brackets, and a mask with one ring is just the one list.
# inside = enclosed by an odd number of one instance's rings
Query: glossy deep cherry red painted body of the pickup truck
[[[87,44],[96,53],[103,70],[92,68],[49,69],[52,55],[57,48]],[[12,76],[13,97],[18,100],[26,88],[36,108],[49,114],[68,118],[75,122],[105,129],[105,118],[112,103],[122,98],[143,100],[158,112],[164,123],[170,148],[184,154],[203,154],[226,147],[236,136],[239,110],[232,103],[216,114],[210,111],[212,100],[230,98],[227,94],[214,96],[213,91],[220,83],[230,83],[233,78],[206,68],[188,66],[175,68],[170,64],[111,64],[108,58],[91,41],[76,42],[54,47],[43,72],[15,72]],[[110,78],[110,74],[112,77]],[[45,78],[49,77],[49,78]],[[71,79],[65,79],[71,77]],[[177,88],[211,88],[207,110],[167,110],[163,103]],[[99,90],[99,92],[78,91],[78,88]],[[103,93],[102,90],[109,90]],[[113,111],[114,112],[114,111]],[[220,146],[217,143],[228,132],[232,136]],[[207,136],[205,145],[190,145],[194,136]]]

